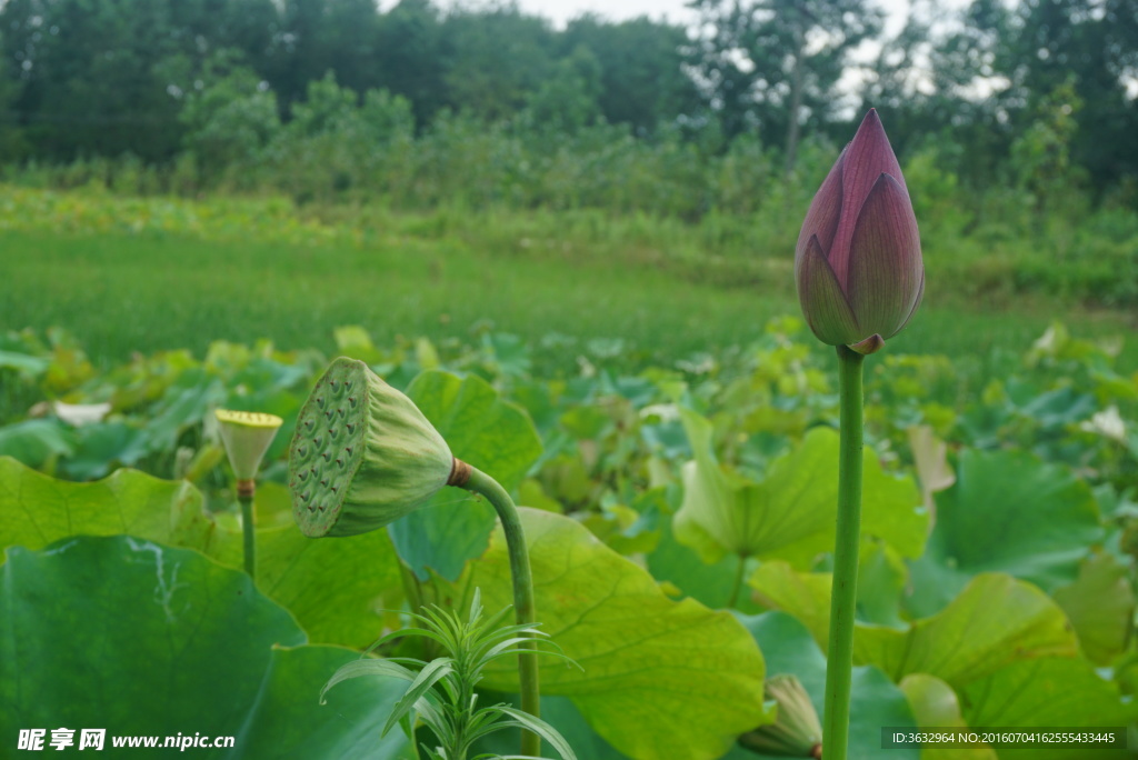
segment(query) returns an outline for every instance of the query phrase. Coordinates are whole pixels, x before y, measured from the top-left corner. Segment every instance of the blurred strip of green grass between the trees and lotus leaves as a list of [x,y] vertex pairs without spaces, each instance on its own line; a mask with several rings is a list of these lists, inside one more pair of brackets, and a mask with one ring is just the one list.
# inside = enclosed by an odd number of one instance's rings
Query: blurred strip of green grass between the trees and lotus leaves
[[[361,214],[353,224],[341,210],[332,222],[286,223],[289,209],[264,204],[51,198],[50,208],[36,196],[9,200],[0,329],[61,325],[102,364],[137,350],[200,355],[218,339],[331,352],[345,324],[377,341],[467,340],[490,325],[534,345],[550,370],[576,360],[556,341],[543,348],[551,334],[619,338],[629,362],[670,362],[745,345],[768,319],[798,314],[784,231],[757,236],[766,253],[748,255],[747,240],[714,243],[706,228],[645,220],[607,228],[567,216],[562,231],[552,214]],[[192,223],[171,222],[171,208]],[[1132,330],[1122,309],[978,288],[951,256],[953,241],[926,245],[925,301],[891,350],[967,357],[989,375],[1054,320],[1087,338]],[[1124,345],[1119,364],[1138,367],[1138,345]]]

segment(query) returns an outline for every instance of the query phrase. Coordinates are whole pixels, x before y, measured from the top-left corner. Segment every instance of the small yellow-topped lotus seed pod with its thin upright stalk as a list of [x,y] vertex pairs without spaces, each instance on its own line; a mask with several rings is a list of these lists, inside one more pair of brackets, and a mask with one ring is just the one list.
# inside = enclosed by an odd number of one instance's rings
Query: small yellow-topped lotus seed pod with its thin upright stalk
[[283,424],[275,414],[216,410],[229,463],[237,478],[237,501],[241,505],[241,532],[245,543],[245,572],[256,579],[257,555],[253,499],[257,493],[257,470],[269,446]]

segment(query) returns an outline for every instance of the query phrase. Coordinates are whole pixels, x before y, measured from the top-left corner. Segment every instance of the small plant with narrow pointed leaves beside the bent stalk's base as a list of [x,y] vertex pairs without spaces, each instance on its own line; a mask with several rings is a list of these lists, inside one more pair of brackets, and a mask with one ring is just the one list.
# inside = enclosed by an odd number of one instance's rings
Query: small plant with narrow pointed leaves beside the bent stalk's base
[[[472,745],[480,738],[500,730],[520,728],[545,740],[562,760],[576,760],[572,747],[541,718],[518,710],[505,703],[479,705],[475,691],[483,679],[483,671],[495,660],[520,653],[523,644],[542,641],[555,646],[536,626],[501,626],[510,611],[505,608],[489,618],[483,617],[481,595],[475,589],[470,611],[463,620],[455,612],[435,605],[423,609],[423,614],[411,613],[420,627],[404,628],[384,636],[371,645],[360,660],[341,667],[324,684],[320,693],[321,702],[332,686],[348,678],[361,676],[385,676],[402,678],[411,683],[406,693],[395,704],[384,725],[386,736],[396,725],[415,742],[415,724],[421,720],[434,733],[438,744],[422,745],[430,760],[485,760],[503,758],[496,754],[478,754],[469,758]],[[368,654],[376,649],[404,636],[429,639],[447,654],[429,662],[415,658],[374,659]],[[560,652],[539,651],[568,660]],[[571,662],[571,660],[570,660]],[[535,755],[505,755],[506,760]]]

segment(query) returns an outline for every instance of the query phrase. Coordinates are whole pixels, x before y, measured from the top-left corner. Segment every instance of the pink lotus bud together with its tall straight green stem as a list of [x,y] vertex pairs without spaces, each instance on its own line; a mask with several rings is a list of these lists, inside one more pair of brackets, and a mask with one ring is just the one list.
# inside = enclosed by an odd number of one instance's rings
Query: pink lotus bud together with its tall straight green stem
[[823,737],[826,760],[846,760],[861,522],[863,364],[908,324],[924,295],[916,216],[875,110],[810,204],[794,250],[794,280],[810,330],[838,347],[841,443]]

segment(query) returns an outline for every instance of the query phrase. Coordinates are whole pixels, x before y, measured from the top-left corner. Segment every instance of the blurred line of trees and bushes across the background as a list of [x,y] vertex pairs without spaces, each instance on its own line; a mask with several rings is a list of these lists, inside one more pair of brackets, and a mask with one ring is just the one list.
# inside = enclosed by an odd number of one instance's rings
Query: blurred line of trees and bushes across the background
[[692,7],[692,30],[555,30],[430,0],[7,0],[0,160],[133,191],[702,216],[827,165],[874,106],[964,196],[1138,207],[1138,0],[917,0],[888,38],[866,0]]

